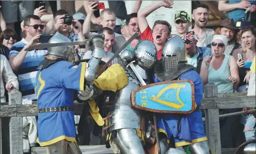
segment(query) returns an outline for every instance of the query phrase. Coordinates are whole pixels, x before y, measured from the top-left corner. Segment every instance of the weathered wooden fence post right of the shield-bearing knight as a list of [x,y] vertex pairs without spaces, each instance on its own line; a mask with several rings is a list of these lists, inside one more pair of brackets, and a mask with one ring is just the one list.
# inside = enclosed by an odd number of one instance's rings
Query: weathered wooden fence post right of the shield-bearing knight
[[[213,83],[204,86],[204,97],[215,98],[218,88]],[[219,109],[205,109],[205,130],[211,150],[216,154],[221,153]]]

